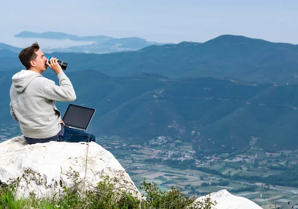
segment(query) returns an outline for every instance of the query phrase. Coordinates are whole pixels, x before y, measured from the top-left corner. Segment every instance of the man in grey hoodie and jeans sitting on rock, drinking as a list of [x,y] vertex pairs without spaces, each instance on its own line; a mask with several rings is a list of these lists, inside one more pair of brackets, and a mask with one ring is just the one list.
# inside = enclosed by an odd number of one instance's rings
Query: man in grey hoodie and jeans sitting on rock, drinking
[[[12,76],[10,114],[19,122],[26,141],[29,144],[95,141],[93,134],[64,126],[56,101],[73,102],[76,96],[70,79],[57,63],[58,59],[48,60],[36,42],[23,49],[19,59],[26,70]],[[41,75],[47,66],[57,74],[59,86]]]

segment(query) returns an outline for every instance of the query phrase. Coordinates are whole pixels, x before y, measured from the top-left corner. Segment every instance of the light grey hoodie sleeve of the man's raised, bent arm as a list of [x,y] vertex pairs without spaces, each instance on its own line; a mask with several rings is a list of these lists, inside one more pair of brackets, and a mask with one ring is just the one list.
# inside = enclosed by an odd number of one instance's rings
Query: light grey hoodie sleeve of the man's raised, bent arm
[[55,85],[55,82],[52,80],[42,78],[43,97],[53,101],[73,102],[76,99],[76,95],[70,79],[63,71],[60,71],[57,77],[60,86]]

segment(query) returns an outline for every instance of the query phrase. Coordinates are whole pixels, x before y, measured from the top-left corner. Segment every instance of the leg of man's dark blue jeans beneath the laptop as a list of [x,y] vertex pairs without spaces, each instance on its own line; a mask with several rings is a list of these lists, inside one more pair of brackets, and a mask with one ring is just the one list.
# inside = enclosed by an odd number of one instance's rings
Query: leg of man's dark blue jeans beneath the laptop
[[65,127],[64,128],[63,136],[58,136],[59,141],[66,141],[66,142],[95,142],[95,136],[92,133],[88,133],[86,131],[76,130],[73,128]]

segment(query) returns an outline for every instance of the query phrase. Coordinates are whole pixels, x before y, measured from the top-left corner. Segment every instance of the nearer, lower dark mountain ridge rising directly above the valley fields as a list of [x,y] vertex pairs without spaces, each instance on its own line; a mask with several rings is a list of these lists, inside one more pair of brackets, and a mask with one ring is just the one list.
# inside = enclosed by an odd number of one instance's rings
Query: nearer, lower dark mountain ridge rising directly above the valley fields
[[[0,72],[1,127],[14,124],[9,88],[14,72]],[[200,153],[255,147],[298,149],[298,86],[250,85],[214,78],[167,79],[143,74],[110,77],[95,70],[67,72],[76,91],[73,104],[96,108],[95,135],[119,135],[143,144],[168,135],[193,143]],[[45,77],[56,81],[47,71]],[[68,103],[57,103],[65,112]]]

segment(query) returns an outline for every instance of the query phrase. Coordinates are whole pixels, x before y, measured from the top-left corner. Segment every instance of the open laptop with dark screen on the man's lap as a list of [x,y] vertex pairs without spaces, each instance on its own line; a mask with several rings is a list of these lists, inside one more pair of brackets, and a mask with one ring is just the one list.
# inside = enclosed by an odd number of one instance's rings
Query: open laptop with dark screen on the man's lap
[[65,127],[85,131],[87,130],[94,113],[94,108],[69,104],[62,120],[65,123]]

